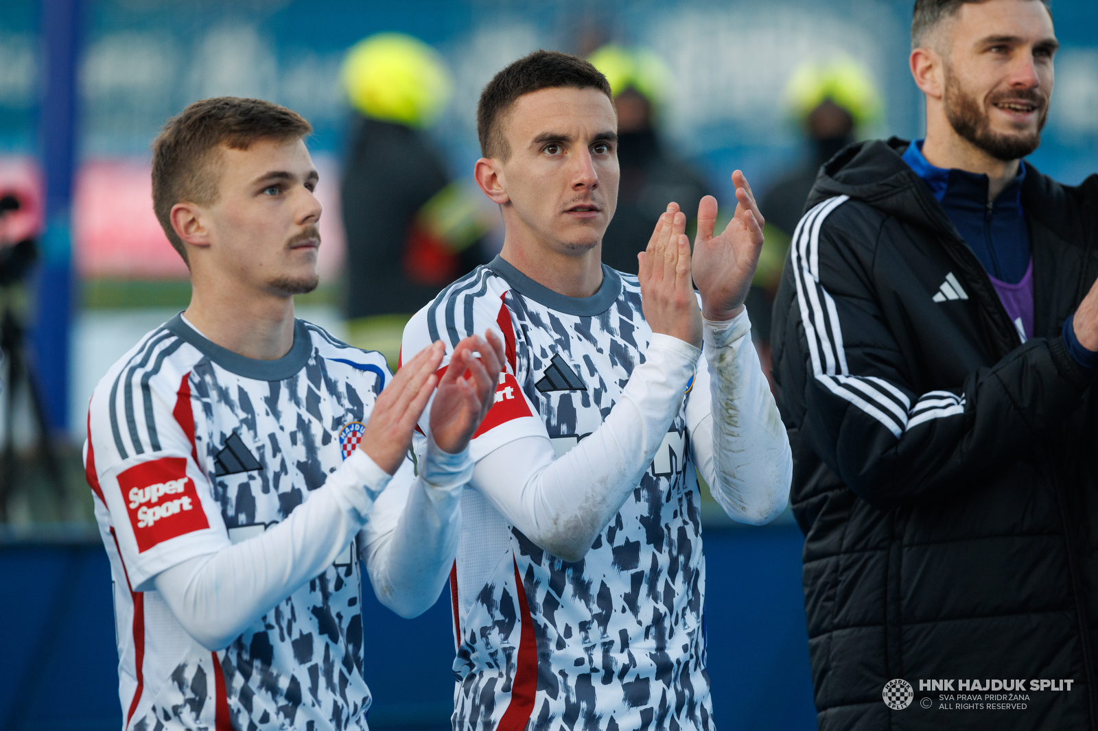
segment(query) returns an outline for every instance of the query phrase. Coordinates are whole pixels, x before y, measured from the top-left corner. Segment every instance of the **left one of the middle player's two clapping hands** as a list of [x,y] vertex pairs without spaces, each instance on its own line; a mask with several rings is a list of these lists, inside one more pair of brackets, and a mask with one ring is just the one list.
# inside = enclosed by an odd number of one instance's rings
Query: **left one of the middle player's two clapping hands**
[[686,215],[677,203],[660,216],[648,248],[637,255],[641,306],[653,333],[702,347],[702,314],[691,280]]

